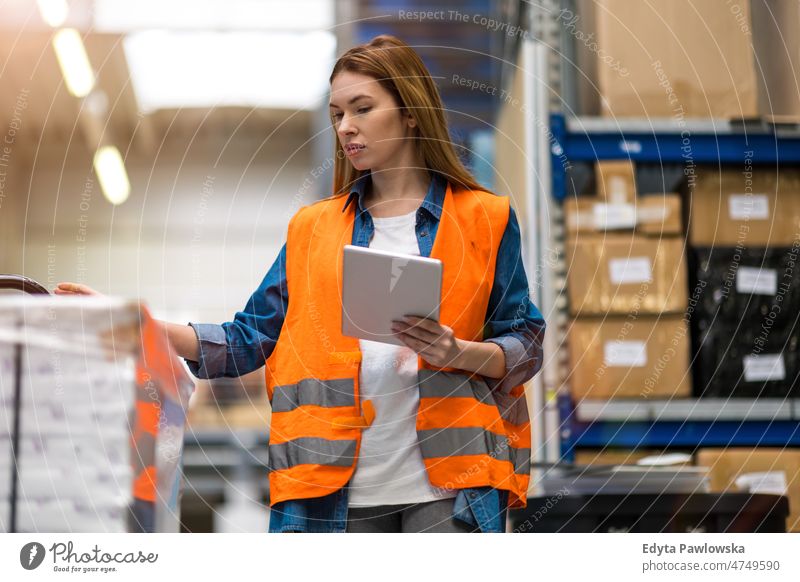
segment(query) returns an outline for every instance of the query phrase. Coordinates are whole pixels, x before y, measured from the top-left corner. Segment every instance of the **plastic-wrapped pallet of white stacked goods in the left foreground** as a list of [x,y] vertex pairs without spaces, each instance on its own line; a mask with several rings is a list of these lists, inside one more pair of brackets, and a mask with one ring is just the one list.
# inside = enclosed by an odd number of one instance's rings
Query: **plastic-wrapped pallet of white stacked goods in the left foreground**
[[0,298],[0,531],[177,531],[191,390],[143,305]]

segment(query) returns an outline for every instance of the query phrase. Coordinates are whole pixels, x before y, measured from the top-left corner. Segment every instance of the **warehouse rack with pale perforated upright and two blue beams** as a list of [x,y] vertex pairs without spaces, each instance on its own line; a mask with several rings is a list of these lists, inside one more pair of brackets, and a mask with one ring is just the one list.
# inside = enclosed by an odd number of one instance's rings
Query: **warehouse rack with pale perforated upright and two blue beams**
[[[535,244],[529,244],[527,268],[541,276],[537,300],[548,315],[551,349],[554,344],[556,349],[566,346],[569,319],[560,205],[570,186],[567,168],[615,159],[660,164],[665,173],[669,166],[723,165],[741,163],[745,158],[755,165],[800,163],[797,125],[760,120],[623,120],[573,115],[570,105],[576,100],[569,93],[574,91],[575,82],[561,66],[561,60],[569,59],[572,50],[557,22],[564,5],[552,0],[532,10],[534,38],[524,41],[520,50],[523,58],[526,51],[533,55],[529,57],[533,74],[526,90],[531,103],[540,104],[535,108],[539,123],[531,131],[530,143],[546,151],[532,156],[534,186],[528,193],[528,204],[538,215],[529,219],[529,227],[542,232]],[[542,79],[547,82],[542,83]],[[542,119],[547,122],[542,123]],[[550,257],[558,258],[555,264],[547,263],[541,250],[545,247]],[[580,448],[800,446],[800,401],[690,398],[573,403],[565,389],[568,368],[564,358],[551,354],[548,362],[551,376],[545,378],[541,393],[537,393],[535,410],[535,417],[547,429],[534,443],[534,450],[546,451],[548,461],[571,461]],[[552,422],[553,408],[557,409],[557,426]]]

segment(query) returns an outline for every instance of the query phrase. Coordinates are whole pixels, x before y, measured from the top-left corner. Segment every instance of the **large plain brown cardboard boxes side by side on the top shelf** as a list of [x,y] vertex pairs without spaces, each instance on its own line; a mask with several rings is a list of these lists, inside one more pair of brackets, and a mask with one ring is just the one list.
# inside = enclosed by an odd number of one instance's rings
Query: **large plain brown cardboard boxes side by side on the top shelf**
[[583,114],[796,121],[800,5],[728,4],[578,0],[577,14],[562,10]]

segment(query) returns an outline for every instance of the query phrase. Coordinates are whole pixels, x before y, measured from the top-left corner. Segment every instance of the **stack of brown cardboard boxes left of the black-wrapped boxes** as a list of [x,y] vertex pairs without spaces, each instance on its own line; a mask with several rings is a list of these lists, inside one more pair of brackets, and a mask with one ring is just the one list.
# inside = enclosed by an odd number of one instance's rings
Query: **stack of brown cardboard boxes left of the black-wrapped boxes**
[[680,198],[637,196],[628,161],[596,175],[596,197],[565,203],[573,398],[688,396]]

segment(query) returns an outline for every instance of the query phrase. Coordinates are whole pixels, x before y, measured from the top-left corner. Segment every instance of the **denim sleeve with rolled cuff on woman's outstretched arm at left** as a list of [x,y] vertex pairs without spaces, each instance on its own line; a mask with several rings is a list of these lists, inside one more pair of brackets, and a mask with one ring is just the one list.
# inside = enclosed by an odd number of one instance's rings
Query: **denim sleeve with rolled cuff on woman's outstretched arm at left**
[[286,286],[286,245],[233,321],[221,325],[189,323],[200,344],[197,362],[186,360],[201,379],[236,378],[264,365],[278,342],[289,294]]

